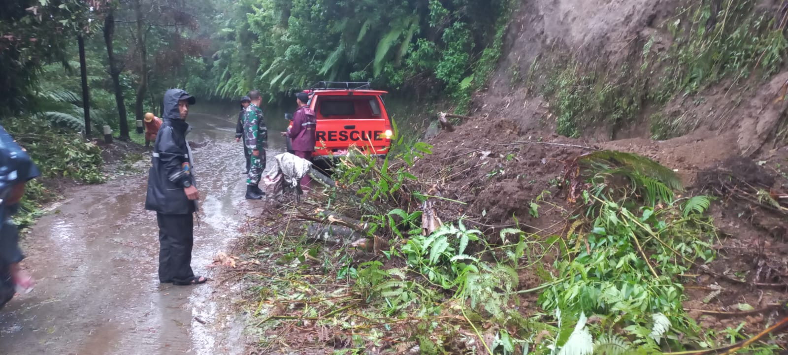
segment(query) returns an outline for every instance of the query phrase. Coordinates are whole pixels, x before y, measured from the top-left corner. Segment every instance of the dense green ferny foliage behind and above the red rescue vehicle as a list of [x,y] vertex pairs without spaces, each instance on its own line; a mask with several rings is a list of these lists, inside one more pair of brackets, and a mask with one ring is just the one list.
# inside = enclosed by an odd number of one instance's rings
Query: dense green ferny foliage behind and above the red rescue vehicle
[[224,45],[208,64],[210,76],[192,77],[189,87],[221,98],[258,87],[274,98],[319,80],[351,80],[462,99],[500,55],[507,6],[506,0],[243,0],[217,14],[222,28],[213,42]]

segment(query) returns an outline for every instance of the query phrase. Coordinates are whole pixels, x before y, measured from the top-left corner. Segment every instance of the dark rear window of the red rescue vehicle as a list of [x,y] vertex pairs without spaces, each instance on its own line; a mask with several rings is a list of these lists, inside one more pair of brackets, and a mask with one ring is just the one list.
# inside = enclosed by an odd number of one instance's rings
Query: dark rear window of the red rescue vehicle
[[318,96],[315,111],[318,119],[368,120],[381,118],[381,104],[377,96]]

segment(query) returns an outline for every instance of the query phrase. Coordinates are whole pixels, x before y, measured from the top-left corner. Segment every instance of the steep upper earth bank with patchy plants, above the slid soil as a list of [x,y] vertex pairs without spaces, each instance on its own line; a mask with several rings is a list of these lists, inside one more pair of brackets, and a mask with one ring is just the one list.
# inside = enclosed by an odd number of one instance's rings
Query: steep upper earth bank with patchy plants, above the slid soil
[[784,138],[786,103],[774,102],[788,80],[781,6],[521,2],[504,57],[474,103],[526,130],[602,142],[693,134],[724,142],[726,154],[715,149],[711,161],[762,153],[776,135]]

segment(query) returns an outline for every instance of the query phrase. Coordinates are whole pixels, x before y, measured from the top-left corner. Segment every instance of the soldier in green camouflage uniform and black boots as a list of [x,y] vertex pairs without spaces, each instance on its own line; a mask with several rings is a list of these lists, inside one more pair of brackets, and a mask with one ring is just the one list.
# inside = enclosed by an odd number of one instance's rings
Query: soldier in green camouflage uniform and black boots
[[260,183],[262,171],[266,169],[268,129],[260,109],[262,102],[260,91],[250,91],[249,98],[251,98],[251,104],[246,108],[246,112],[243,115],[243,134],[245,135],[243,140],[246,143],[247,151],[251,153],[251,168],[249,168],[249,176],[247,178],[246,198],[259,200],[265,195],[258,187],[258,183]]

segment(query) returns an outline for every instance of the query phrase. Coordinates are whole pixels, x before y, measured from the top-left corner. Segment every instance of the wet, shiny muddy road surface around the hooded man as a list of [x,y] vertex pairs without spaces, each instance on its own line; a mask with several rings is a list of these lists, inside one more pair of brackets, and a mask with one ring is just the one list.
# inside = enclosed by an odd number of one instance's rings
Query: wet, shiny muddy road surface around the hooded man
[[[284,120],[266,114],[266,121],[269,146],[283,146],[277,131]],[[243,199],[243,155],[233,138],[234,122],[205,113],[190,113],[189,122],[195,128],[188,139],[198,146],[195,174],[202,196],[191,265],[196,274],[212,276],[206,266],[239,236],[242,214],[262,202]],[[269,161],[275,153],[269,150]],[[222,312],[213,297],[220,294],[216,280],[197,287],[158,283],[158,229],[155,214],[144,210],[146,185],[147,170],[69,191],[65,202],[32,228],[24,242],[25,264],[38,286],[0,311],[0,353],[243,350],[242,321]]]

